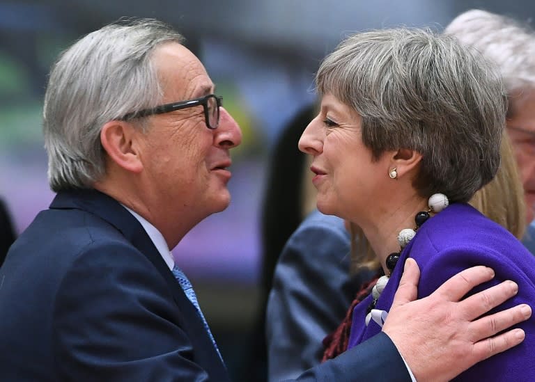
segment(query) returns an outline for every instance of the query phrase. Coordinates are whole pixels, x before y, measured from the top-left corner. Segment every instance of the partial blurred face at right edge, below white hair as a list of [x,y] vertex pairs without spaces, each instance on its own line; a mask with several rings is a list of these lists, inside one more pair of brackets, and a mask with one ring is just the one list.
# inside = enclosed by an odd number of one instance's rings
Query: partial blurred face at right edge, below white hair
[[507,133],[522,177],[529,223],[534,219],[535,209],[535,90],[511,95],[511,116]]

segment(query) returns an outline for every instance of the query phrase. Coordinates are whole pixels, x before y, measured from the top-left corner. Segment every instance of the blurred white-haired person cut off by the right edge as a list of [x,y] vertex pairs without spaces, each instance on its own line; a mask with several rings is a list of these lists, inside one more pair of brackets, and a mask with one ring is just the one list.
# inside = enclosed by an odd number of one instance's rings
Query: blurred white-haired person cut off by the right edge
[[535,253],[535,33],[515,19],[486,10],[468,10],[444,29],[493,61],[502,74],[509,102],[506,131],[524,185],[529,223],[523,242]]

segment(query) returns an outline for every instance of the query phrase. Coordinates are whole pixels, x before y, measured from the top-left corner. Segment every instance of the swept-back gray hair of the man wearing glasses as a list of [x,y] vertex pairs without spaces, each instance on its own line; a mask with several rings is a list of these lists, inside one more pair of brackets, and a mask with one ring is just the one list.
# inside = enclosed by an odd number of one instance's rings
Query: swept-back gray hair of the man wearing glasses
[[105,173],[102,125],[160,102],[151,53],[164,42],[182,43],[183,37],[154,19],[122,20],[89,33],[59,56],[43,109],[52,190],[91,188]]

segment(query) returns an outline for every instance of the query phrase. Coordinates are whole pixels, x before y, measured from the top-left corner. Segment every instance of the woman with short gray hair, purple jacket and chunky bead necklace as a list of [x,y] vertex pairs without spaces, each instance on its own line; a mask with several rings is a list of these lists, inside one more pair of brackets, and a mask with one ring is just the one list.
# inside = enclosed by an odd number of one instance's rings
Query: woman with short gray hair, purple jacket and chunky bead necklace
[[[506,100],[493,67],[446,35],[371,31],[327,56],[316,84],[320,113],[299,147],[313,156],[318,209],[359,226],[386,275],[356,305],[349,347],[381,331],[408,256],[421,269],[419,297],[460,269],[486,264],[494,284],[518,282],[506,305],[532,303],[535,258],[466,204],[499,167]],[[520,347],[458,380],[535,380],[532,321],[521,325]]]

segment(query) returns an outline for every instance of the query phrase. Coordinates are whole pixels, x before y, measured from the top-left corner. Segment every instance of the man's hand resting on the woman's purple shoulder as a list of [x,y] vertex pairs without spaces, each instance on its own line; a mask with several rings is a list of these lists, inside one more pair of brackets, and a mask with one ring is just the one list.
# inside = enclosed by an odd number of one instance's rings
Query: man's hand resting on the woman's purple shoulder
[[528,305],[517,305],[478,319],[515,296],[518,292],[515,282],[504,281],[460,301],[476,285],[494,277],[492,269],[474,266],[444,282],[433,294],[416,300],[419,274],[417,263],[408,259],[382,328],[417,381],[448,381],[479,361],[524,340],[522,329],[496,334],[528,319],[532,314]]

